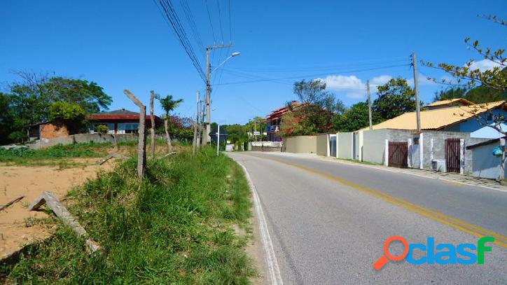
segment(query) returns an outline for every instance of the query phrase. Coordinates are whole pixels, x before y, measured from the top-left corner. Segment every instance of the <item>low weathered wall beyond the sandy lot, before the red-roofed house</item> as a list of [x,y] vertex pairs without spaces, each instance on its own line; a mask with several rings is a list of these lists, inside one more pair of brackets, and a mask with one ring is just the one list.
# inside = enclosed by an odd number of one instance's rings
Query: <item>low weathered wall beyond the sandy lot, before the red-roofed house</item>
[[[137,139],[137,134],[116,134],[116,140],[131,141]],[[112,134],[72,134],[69,137],[57,137],[54,139],[40,139],[34,144],[27,144],[29,148],[47,148],[49,146],[56,146],[57,144],[81,144],[95,142],[97,144],[104,142],[114,142]]]

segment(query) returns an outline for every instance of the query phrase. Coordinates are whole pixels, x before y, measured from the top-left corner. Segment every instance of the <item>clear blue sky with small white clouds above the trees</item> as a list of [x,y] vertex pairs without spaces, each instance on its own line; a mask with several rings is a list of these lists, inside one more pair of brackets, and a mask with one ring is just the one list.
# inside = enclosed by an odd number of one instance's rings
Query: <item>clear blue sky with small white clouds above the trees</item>
[[[194,116],[205,84],[158,0],[0,2],[0,83],[15,70],[93,81],[113,97],[110,110],[137,107],[128,89],[148,104],[150,90],[184,99],[180,116]],[[205,68],[203,46],[232,43],[211,55],[211,120],[244,124],[297,99],[294,81],[321,78],[347,106],[375,86],[401,76],[413,84],[410,54],[429,62],[492,64],[464,39],[504,48],[505,28],[481,15],[506,17],[504,1],[237,1],[172,0],[193,50]],[[185,3],[190,13],[184,9]],[[229,8],[230,7],[230,8]],[[195,26],[187,18],[194,19]],[[195,27],[195,29],[192,29]],[[202,45],[201,45],[202,43]],[[232,57],[219,66],[232,52]],[[420,96],[432,102],[445,86],[426,77],[445,74],[419,66]],[[155,104],[155,113],[162,109]]]

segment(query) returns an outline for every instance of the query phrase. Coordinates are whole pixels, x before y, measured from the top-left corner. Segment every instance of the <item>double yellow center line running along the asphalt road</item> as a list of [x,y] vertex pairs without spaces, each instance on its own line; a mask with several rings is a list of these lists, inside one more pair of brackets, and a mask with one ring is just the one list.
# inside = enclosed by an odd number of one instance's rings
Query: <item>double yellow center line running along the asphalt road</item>
[[[252,156],[256,156],[256,155],[252,155]],[[258,156],[256,156],[256,157],[261,158]],[[435,221],[439,221],[440,223],[443,223],[445,225],[449,225],[452,228],[456,228],[458,230],[468,232],[469,234],[471,234],[475,237],[485,237],[485,236],[494,237],[495,244],[498,244],[499,246],[503,246],[503,247],[507,248],[507,237],[504,235],[500,235],[499,233],[493,232],[491,230],[486,230],[485,228],[481,228],[477,225],[472,225],[471,223],[466,223],[465,221],[461,221],[457,218],[452,218],[450,216],[440,214],[438,211],[434,211],[432,209],[421,207],[417,204],[413,204],[411,202],[400,199],[398,197],[394,197],[392,195],[380,192],[378,190],[374,190],[372,188],[368,188],[366,186],[359,185],[359,184],[349,181],[347,179],[342,179],[342,178],[338,178],[336,176],[333,176],[331,174],[319,172],[318,170],[312,169],[310,167],[305,167],[303,165],[297,165],[292,162],[286,162],[284,160],[278,160],[275,158],[265,158],[265,157],[262,157],[262,158],[267,159],[267,160],[273,160],[273,161],[282,163],[284,165],[290,165],[292,167],[297,167],[299,169],[305,170],[306,172],[310,172],[312,174],[316,174],[318,176],[321,176],[325,179],[329,179],[329,180],[341,183],[345,186],[349,186],[350,188],[353,188],[355,190],[359,190],[363,193],[368,193],[368,194],[378,197],[386,202],[389,202],[391,204],[395,204],[396,206],[403,207],[405,209],[408,209],[409,211],[413,211],[413,212],[420,214],[422,216],[426,216],[426,217],[431,218]]]

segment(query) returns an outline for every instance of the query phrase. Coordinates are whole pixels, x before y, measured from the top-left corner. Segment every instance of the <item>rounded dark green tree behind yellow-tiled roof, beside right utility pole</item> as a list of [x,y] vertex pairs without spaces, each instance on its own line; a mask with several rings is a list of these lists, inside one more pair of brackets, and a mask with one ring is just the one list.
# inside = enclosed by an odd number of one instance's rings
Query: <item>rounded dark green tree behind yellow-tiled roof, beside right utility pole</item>
[[[377,95],[372,104],[373,113],[384,120],[415,111],[415,92],[401,77],[391,78],[384,85],[380,85]],[[368,118],[368,115],[366,117]]]

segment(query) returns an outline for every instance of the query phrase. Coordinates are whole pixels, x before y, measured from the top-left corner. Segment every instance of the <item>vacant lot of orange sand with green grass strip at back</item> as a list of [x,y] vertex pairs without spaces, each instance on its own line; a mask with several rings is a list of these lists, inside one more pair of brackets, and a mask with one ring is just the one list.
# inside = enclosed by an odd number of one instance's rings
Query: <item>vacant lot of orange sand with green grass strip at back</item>
[[[111,144],[71,144],[42,150],[0,148],[0,205],[15,197],[20,202],[0,211],[0,259],[18,251],[24,244],[48,237],[54,226],[37,218],[48,218],[43,211],[27,211],[43,191],[53,191],[60,199],[88,179],[96,179],[97,172],[111,171],[118,160],[97,165],[108,153],[134,155],[137,141],[125,141],[113,148]],[[175,146],[179,150],[181,146]],[[158,155],[166,151],[165,141],[158,141]]]

